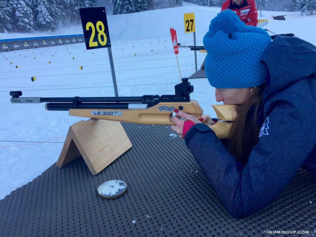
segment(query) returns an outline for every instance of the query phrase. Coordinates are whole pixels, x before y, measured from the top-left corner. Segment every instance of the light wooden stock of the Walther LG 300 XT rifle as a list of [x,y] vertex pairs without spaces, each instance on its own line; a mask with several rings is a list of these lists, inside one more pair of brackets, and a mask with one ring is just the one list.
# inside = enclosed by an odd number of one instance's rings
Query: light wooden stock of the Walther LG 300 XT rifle
[[[174,125],[170,120],[174,108],[193,115],[199,119],[203,114],[203,109],[196,100],[189,102],[165,102],[146,109],[69,109],[69,115],[91,119],[105,119],[127,123],[154,124],[154,125]],[[219,120],[215,125],[208,125],[218,139],[229,138],[229,130],[234,120],[234,105],[212,105]],[[117,115],[116,115],[117,114]]]

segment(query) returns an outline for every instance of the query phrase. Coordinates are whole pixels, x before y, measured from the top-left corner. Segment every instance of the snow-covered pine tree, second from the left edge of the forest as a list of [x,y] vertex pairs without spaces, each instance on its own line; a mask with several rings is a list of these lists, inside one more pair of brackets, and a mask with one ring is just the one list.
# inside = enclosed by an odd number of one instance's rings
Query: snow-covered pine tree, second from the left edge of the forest
[[28,0],[17,2],[15,11],[16,27],[21,32],[34,31],[32,4]]

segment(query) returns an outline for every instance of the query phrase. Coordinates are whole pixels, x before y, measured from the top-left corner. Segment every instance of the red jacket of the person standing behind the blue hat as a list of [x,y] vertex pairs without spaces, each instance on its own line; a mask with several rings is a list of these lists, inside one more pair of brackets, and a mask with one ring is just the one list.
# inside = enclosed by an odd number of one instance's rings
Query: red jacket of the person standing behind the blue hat
[[226,0],[222,4],[222,11],[226,9],[236,12],[240,20],[245,22],[246,25],[257,26],[258,12],[254,0],[243,0],[239,6],[233,0]]

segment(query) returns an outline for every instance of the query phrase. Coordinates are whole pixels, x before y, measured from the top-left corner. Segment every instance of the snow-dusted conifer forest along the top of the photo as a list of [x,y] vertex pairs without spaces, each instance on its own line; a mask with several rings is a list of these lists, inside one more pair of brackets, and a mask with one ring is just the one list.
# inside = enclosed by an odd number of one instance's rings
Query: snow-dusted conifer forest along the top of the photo
[[[186,0],[221,7],[224,0]],[[255,0],[258,12],[299,11],[312,15],[316,0]],[[60,25],[80,23],[80,8],[105,6],[107,15],[182,6],[182,0],[0,0],[0,33],[55,31]]]

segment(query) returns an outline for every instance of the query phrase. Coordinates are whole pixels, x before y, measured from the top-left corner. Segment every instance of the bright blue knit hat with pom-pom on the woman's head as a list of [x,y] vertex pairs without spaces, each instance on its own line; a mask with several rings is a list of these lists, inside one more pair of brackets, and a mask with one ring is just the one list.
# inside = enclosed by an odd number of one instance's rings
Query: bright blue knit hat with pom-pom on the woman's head
[[245,25],[233,11],[217,14],[203,39],[204,68],[211,86],[244,88],[264,83],[268,68],[259,60],[270,42],[264,29]]

